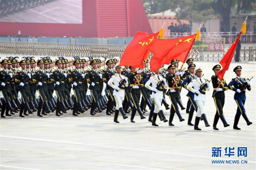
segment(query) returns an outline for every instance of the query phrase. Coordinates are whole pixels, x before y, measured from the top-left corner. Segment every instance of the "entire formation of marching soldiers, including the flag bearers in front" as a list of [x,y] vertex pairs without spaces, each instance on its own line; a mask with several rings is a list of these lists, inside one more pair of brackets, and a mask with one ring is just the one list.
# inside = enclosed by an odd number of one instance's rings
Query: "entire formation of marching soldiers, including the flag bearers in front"
[[[136,69],[131,66],[120,66],[119,58],[106,59],[100,57],[57,57],[54,61],[50,57],[7,57],[1,61],[0,84],[1,84],[1,117],[19,113],[20,117],[28,116],[37,112],[37,116],[43,117],[50,112],[56,116],[72,110],[73,116],[77,116],[90,109],[91,115],[101,113],[106,109],[106,114],[114,114],[114,122],[119,112],[123,119],[134,121],[136,112],[140,119],[145,119],[144,114],[150,109],[148,121],[156,124],[156,118],[160,121],[172,123],[174,115],[179,121],[185,121],[180,109],[186,109],[188,113],[188,125],[198,128],[200,119],[205,126],[209,127],[204,105],[206,91],[210,90],[210,81],[203,77],[203,70],[196,67],[193,59],[189,58],[187,70],[179,72],[179,60],[173,59],[168,66],[151,72],[149,62],[144,59],[144,69]],[[134,61],[136,62],[136,61]],[[237,110],[233,129],[237,127],[240,115],[243,116],[247,125],[249,121],[244,103],[245,91],[251,90],[250,81],[241,77],[241,66],[236,66],[234,72],[236,78],[232,78],[227,84],[225,78],[221,80],[216,73],[221,69],[215,65],[211,77],[213,92],[212,98],[216,106],[216,114],[213,121],[213,129],[218,130],[217,122],[220,118],[224,127],[229,124],[225,120],[223,107],[225,102],[225,91],[235,92],[234,100]],[[220,83],[220,86],[218,87]],[[180,92],[184,88],[188,90],[187,108],[180,99]],[[169,98],[169,99],[168,99]],[[171,108],[166,102],[171,100]],[[165,118],[163,106],[170,109],[169,121]],[[196,111],[195,123],[192,124],[193,114]],[[5,115],[4,115],[5,114]]]

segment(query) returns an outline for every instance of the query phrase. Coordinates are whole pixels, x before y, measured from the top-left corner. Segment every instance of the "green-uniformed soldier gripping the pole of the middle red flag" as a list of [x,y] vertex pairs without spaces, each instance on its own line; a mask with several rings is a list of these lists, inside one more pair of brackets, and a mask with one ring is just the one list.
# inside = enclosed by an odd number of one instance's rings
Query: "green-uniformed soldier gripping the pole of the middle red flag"
[[[181,77],[179,76],[180,72],[175,73],[175,65],[174,64],[170,64],[168,67],[168,70],[170,71],[170,73],[168,73],[166,75],[166,80],[167,80],[168,86],[169,86],[169,91],[167,93],[172,102],[172,107],[170,110],[169,126],[174,126],[174,124],[172,124],[172,120],[173,120],[175,112],[178,115],[180,122],[185,121],[185,119],[183,119],[181,117],[180,109],[178,107],[178,101],[180,99],[179,93],[180,93],[180,88],[181,88]],[[175,83],[176,76],[178,76],[178,78]],[[174,83],[175,83],[175,85],[174,85],[174,88],[172,89],[172,86]]]

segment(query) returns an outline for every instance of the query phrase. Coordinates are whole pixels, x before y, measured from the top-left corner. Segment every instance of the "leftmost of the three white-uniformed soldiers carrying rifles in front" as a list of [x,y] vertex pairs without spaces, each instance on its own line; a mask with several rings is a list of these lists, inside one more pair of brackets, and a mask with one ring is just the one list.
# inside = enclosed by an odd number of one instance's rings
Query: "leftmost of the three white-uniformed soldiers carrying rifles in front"
[[[114,116],[114,122],[119,123],[117,120],[119,111],[123,115],[123,118],[128,118],[123,109],[122,101],[124,100],[124,89],[128,86],[128,78],[121,75],[122,67],[117,63],[114,67],[116,69],[116,74],[112,75],[108,80],[108,85],[110,85],[114,90],[113,96],[116,100],[116,111]],[[122,82],[122,83],[121,83]],[[121,84],[120,84],[121,83]]]

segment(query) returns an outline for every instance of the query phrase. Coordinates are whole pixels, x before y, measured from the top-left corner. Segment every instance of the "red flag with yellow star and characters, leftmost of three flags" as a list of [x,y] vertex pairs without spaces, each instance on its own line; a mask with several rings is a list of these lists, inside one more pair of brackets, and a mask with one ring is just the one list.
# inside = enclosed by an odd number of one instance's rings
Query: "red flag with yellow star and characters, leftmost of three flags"
[[124,50],[120,59],[120,66],[129,65],[134,68],[142,68],[143,59],[147,59],[150,53],[149,44],[157,39],[158,33],[137,32]]

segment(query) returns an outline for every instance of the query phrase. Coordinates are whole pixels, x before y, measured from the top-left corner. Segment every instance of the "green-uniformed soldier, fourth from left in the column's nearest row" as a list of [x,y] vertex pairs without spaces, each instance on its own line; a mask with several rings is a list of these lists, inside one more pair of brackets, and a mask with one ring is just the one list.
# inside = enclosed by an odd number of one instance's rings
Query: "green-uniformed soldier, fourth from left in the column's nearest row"
[[57,66],[57,69],[53,71],[53,74],[51,75],[51,82],[55,84],[54,90],[56,91],[56,94],[58,96],[57,100],[57,108],[56,108],[56,116],[63,115],[60,113],[61,106],[65,109],[66,106],[63,102],[63,96],[62,93],[64,91],[64,79],[67,77],[67,73],[65,73],[63,70],[61,70],[62,67],[62,61],[59,59],[55,62],[55,65]]

